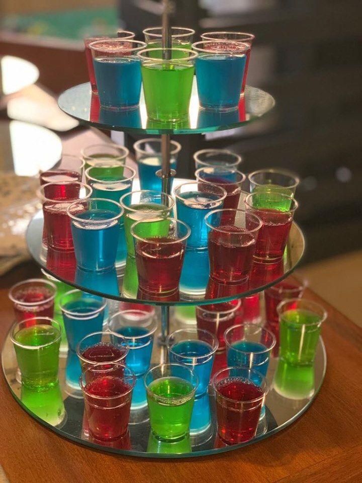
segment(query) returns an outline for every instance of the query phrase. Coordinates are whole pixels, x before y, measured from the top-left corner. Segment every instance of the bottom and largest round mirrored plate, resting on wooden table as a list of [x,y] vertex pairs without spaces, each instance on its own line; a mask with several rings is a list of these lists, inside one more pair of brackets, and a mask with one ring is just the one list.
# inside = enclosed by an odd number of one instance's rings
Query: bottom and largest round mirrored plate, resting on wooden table
[[[171,319],[172,330],[180,325]],[[190,327],[190,324],[188,325]],[[225,356],[224,356],[225,357]],[[152,362],[160,361],[158,346],[154,345]],[[83,429],[83,399],[69,390],[65,383],[65,357],[60,357],[59,385],[47,392],[32,392],[22,387],[17,370],[13,344],[8,335],[2,352],[3,371],[10,391],[20,406],[36,421],[56,434],[78,444],[116,454],[148,458],[182,458],[214,455],[242,448],[286,428],[296,421],[312,404],[326,370],[326,353],[319,339],[314,367],[286,367],[277,358],[270,359],[267,381],[270,390],[265,400],[265,416],[259,421],[256,436],[235,445],[226,445],[217,435],[215,399],[209,394],[194,404],[193,418],[200,428],[176,443],[157,440],[150,431],[147,406],[131,411],[128,433],[117,441],[95,441]],[[139,383],[143,387],[142,378]]]

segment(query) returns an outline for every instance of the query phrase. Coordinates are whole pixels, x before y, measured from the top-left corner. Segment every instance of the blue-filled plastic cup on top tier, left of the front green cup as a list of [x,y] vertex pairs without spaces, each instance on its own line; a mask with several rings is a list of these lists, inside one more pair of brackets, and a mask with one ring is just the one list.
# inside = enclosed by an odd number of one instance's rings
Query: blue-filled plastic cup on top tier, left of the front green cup
[[89,44],[101,106],[137,108],[141,95],[141,63],[136,56],[146,44],[137,40],[105,39]]

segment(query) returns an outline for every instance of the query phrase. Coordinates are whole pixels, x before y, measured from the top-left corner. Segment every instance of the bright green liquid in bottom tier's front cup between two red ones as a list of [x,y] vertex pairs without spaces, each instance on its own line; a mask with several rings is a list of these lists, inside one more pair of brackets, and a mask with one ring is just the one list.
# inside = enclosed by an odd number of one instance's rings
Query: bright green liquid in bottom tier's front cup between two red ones
[[156,437],[173,440],[184,437],[190,428],[194,405],[193,386],[180,377],[161,377],[147,391],[150,423]]

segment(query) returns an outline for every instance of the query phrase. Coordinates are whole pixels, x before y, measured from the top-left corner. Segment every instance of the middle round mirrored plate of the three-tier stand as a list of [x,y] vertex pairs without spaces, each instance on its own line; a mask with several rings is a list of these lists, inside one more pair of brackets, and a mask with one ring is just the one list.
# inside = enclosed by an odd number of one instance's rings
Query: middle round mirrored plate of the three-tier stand
[[[190,181],[175,178],[173,189],[180,183]],[[135,188],[135,185],[133,187]],[[243,208],[239,204],[239,208]],[[135,259],[128,257],[121,268],[114,268],[107,272],[86,272],[76,266],[74,252],[57,252],[45,249],[42,245],[43,213],[39,211],[28,226],[26,239],[28,249],[34,260],[50,275],[62,282],[103,297],[136,303],[151,303],[155,305],[202,305],[207,303],[231,300],[245,297],[265,290],[286,278],[299,264],[305,248],[304,236],[296,223],[293,223],[289,233],[287,248],[281,261],[273,264],[253,263],[249,280],[240,285],[226,285],[216,283],[206,277],[205,290],[192,293],[180,287],[179,295],[169,300],[167,298],[153,298],[142,295],[138,291],[138,280]],[[206,256],[208,253],[206,252]],[[193,259],[184,260],[192,267]],[[185,267],[184,267],[185,268]],[[212,296],[205,297],[206,285]]]

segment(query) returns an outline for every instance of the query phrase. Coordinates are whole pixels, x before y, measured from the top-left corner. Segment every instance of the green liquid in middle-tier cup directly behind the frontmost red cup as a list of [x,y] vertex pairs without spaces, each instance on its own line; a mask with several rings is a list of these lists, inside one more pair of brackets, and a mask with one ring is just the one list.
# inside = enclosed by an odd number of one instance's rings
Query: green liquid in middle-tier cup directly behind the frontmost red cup
[[[126,245],[127,245],[127,252],[128,255],[135,256],[134,251],[134,240],[131,234],[131,226],[136,221],[141,220],[142,218],[147,218],[148,216],[152,215],[153,213],[156,216],[165,217],[169,215],[169,208],[165,205],[160,205],[157,203],[140,203],[135,205],[130,205],[129,208],[137,209],[137,211],[129,211],[125,210],[124,215],[124,225],[125,225],[125,233],[126,233]],[[162,213],[160,213],[162,212]],[[167,236],[169,228],[169,221],[167,220],[157,220],[157,221],[145,221],[144,223],[139,223],[137,225],[137,235],[141,236],[142,238],[147,237],[154,237],[154,236]]]

